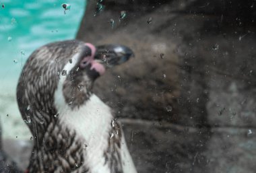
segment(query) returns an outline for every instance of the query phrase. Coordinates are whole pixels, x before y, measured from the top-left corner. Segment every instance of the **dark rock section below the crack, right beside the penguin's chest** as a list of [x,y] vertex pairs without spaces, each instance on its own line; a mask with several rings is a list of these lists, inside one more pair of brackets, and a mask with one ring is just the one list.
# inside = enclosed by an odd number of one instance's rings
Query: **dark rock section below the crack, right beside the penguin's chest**
[[[206,167],[208,129],[121,119],[138,172],[193,172]],[[196,171],[195,171],[196,172]]]

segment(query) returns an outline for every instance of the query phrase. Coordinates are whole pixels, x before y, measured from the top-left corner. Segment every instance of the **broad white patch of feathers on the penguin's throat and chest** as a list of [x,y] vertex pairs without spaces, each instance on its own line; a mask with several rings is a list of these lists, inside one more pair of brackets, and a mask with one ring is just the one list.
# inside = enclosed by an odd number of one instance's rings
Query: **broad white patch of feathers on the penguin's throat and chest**
[[[55,100],[57,96],[55,95]],[[92,172],[110,172],[104,164],[104,151],[108,147],[109,132],[113,115],[110,108],[94,94],[79,108],[71,108],[65,103],[56,102],[59,110],[59,123],[75,131],[77,137],[84,141],[85,157]],[[59,107],[58,107],[59,106]],[[95,169],[95,170],[94,170]]]

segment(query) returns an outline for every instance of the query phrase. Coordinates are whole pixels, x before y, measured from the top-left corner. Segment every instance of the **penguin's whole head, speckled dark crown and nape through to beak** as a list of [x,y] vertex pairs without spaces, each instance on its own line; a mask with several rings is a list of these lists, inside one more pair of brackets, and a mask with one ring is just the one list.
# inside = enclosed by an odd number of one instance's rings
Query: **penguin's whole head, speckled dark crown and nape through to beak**
[[27,120],[33,116],[39,123],[49,120],[47,115],[57,114],[61,105],[79,108],[90,99],[94,81],[106,69],[124,63],[131,55],[131,49],[126,46],[94,46],[77,40],[38,48],[26,61],[18,82],[22,117]]

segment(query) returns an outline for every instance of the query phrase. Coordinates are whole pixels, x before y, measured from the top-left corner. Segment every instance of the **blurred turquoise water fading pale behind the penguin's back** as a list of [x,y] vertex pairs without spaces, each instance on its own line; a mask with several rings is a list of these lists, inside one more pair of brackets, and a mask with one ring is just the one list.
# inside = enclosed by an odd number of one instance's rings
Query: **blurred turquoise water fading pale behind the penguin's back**
[[[62,3],[69,3],[71,9],[64,13]],[[8,128],[5,126],[13,125],[13,120],[15,126],[20,125],[15,87],[22,65],[39,46],[75,38],[85,3],[84,0],[0,1],[0,114],[5,136],[14,134],[12,129],[5,130]]]

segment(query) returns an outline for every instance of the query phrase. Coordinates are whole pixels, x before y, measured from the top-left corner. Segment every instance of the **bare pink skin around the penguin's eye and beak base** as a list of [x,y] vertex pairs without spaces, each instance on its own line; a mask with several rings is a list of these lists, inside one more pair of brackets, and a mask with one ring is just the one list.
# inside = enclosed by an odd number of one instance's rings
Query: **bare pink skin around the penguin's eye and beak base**
[[106,71],[104,65],[96,62],[94,60],[94,56],[96,53],[96,48],[94,45],[86,42],[86,46],[90,47],[90,49],[92,50],[92,55],[90,57],[84,57],[84,59],[82,59],[81,63],[80,63],[80,67],[84,68],[86,67],[88,64],[91,64],[91,70],[94,69],[96,70],[100,75],[103,75]]

